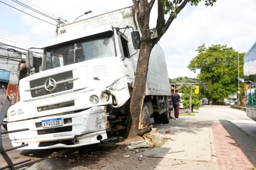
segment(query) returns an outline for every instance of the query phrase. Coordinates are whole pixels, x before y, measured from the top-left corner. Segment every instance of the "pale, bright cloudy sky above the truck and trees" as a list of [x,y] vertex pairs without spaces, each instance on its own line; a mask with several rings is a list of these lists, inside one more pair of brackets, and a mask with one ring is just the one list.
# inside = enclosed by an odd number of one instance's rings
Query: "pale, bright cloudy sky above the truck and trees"
[[[26,9],[11,0],[1,1],[56,24],[54,20]],[[88,10],[92,10],[92,13],[80,17],[79,20],[133,5],[132,0],[122,0],[122,3],[120,0],[18,1],[40,12],[66,19],[69,22],[73,22]],[[202,2],[197,7],[187,5],[180,12],[159,41],[165,53],[169,78],[197,77],[199,71],[194,74],[187,68],[187,65],[191,59],[197,56],[196,49],[202,43],[228,45],[239,52],[249,50],[256,40],[256,1],[244,0],[243,3],[241,2],[239,0],[217,0],[213,7],[206,7]],[[156,19],[157,3],[151,12],[151,29],[155,28]],[[26,49],[31,46],[38,47],[44,41],[54,38],[55,29],[56,27],[49,23],[0,3],[0,42]]]

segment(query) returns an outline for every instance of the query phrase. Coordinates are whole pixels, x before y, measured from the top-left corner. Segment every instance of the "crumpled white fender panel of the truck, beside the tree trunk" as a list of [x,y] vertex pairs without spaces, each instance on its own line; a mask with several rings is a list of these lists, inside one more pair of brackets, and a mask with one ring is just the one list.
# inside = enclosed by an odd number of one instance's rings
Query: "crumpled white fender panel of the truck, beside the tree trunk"
[[106,90],[115,97],[115,103],[111,104],[112,107],[123,106],[131,96],[127,85],[127,75],[116,79],[110,86],[106,87]]

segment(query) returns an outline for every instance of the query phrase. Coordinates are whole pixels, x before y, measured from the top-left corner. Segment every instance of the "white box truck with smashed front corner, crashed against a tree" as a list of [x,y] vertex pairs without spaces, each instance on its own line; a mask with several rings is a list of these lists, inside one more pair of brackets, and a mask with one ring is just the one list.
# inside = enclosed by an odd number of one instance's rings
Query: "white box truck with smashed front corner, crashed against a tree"
[[[8,109],[13,147],[78,147],[126,128],[136,77],[140,31],[133,7],[57,28],[44,45],[41,71],[19,83],[20,101]],[[33,61],[28,58],[30,64]],[[152,50],[140,129],[169,123],[170,87],[159,44]]]

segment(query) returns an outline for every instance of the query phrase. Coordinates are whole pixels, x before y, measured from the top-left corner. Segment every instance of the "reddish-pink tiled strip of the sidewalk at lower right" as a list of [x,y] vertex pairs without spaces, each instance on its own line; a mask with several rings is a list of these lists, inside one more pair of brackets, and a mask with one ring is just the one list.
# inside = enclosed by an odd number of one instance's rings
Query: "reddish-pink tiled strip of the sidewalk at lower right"
[[250,170],[254,167],[240,145],[220,124],[212,126],[219,170]]

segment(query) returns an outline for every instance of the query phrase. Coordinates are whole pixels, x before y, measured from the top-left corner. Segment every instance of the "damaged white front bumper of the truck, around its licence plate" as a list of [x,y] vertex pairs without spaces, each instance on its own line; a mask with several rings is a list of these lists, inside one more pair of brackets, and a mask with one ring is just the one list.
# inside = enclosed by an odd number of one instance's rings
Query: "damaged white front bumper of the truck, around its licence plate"
[[[61,118],[62,126],[42,128],[41,120]],[[107,139],[109,122],[104,106],[77,113],[66,113],[12,122],[8,130],[29,128],[29,131],[9,134],[13,147],[28,143],[26,149],[70,148],[99,143]]]

